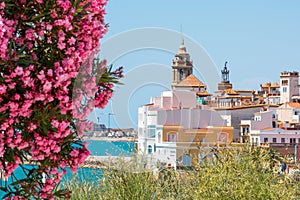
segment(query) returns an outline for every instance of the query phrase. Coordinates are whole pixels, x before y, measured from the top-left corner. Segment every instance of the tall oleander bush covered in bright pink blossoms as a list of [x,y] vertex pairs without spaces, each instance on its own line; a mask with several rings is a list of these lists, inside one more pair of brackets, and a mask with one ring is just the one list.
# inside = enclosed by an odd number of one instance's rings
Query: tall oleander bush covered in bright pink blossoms
[[[107,31],[106,0],[0,2],[0,179],[8,199],[54,199],[67,167],[89,155],[82,141],[122,77],[94,57]],[[30,163],[36,167],[26,167]],[[14,173],[21,168],[25,178]]]

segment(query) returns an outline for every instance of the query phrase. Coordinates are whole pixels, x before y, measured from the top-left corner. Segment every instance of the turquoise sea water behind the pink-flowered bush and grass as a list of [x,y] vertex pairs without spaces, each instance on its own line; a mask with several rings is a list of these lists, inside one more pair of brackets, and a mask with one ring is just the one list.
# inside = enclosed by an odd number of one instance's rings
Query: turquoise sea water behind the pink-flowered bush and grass
[[[91,152],[91,156],[132,156],[134,152],[134,142],[110,142],[106,140],[86,140],[86,142],[89,143],[88,149]],[[15,175],[18,179],[25,177],[21,168],[15,171]],[[72,174],[70,170],[67,169],[67,174],[63,177],[62,182],[72,180],[75,176],[79,180],[97,182],[102,177],[102,171],[100,169],[79,168],[77,173]],[[8,182],[10,182],[10,180],[11,178],[8,178]],[[4,184],[5,182],[0,179],[0,186]],[[3,195],[4,193],[0,191],[0,199]]]

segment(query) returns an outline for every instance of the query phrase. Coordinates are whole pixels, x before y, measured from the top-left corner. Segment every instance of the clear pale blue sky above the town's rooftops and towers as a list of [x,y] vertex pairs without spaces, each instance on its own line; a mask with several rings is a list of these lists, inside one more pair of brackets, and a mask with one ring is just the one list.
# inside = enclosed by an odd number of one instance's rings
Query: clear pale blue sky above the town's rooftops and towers
[[[147,27],[166,29],[179,35],[182,33],[188,40],[187,50],[189,51],[191,41],[197,43],[206,52],[217,71],[220,71],[225,61],[228,61],[230,80],[234,89],[258,89],[259,84],[266,81],[278,82],[281,71],[300,71],[299,8],[300,1],[296,0],[111,0],[106,6],[105,17],[110,28],[102,42],[105,43],[130,30]],[[169,37],[164,38],[165,41],[168,39]],[[131,38],[130,42],[135,41]],[[178,41],[172,40],[173,46],[170,45],[170,48],[174,48],[174,52],[159,48],[143,49],[108,60],[116,67],[120,65],[125,67],[125,79],[126,73],[141,66],[151,68],[151,63],[165,66],[162,69],[166,72],[170,70],[170,77],[161,75],[163,84],[149,81],[148,84],[134,89],[125,86],[117,87],[117,91],[127,89],[130,98],[122,99],[124,100],[122,106],[126,107],[127,114],[122,114],[121,117],[120,114],[111,116],[112,127],[135,126],[137,107],[148,103],[150,96],[158,96],[161,90],[168,89],[166,83],[171,80],[171,60],[180,42],[181,37],[178,37]],[[114,44],[113,48],[122,48],[122,45],[124,43],[121,41],[117,45]],[[102,52],[110,51],[104,47],[106,46],[103,46]],[[202,59],[202,54],[189,52],[192,59]],[[204,82],[209,79],[203,77],[203,74],[201,77],[201,70],[205,70],[208,66],[197,66],[200,72],[196,75],[199,75]],[[148,75],[149,73],[141,74],[138,78],[144,79]],[[125,79],[123,82],[126,83],[128,80]],[[218,80],[216,84],[217,82]],[[116,95],[112,101],[118,103],[120,96]],[[109,104],[106,109],[97,110],[95,116],[100,116],[100,122],[107,125],[108,113],[116,113],[116,109],[119,107]]]

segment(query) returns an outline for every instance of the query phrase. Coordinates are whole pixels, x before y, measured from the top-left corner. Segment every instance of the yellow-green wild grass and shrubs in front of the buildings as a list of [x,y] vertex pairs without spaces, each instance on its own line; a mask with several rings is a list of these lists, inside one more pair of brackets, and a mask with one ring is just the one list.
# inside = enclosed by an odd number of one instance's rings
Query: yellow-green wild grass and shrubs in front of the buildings
[[134,170],[139,163],[122,163],[104,171],[97,183],[75,178],[64,187],[78,200],[298,199],[299,182],[274,173],[274,157],[274,152],[259,148],[215,150],[213,160],[192,170],[156,173]]

